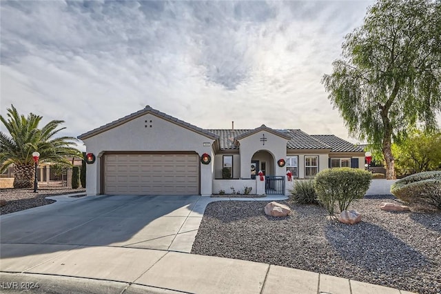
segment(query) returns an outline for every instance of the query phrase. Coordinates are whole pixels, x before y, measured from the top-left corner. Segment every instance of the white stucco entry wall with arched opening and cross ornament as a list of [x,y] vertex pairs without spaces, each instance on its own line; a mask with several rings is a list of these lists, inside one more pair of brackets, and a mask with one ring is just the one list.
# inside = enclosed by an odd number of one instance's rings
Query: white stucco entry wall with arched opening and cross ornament
[[[265,145],[260,141],[262,135],[265,134]],[[251,164],[254,153],[264,150],[267,151],[273,157],[273,175],[285,175],[286,168],[280,168],[277,165],[277,161],[280,158],[286,158],[287,155],[287,139],[269,133],[265,130],[261,130],[258,133],[247,136],[239,140],[240,143],[240,177],[243,179],[249,179],[251,177],[249,173],[249,166]],[[267,162],[267,170],[269,169],[269,162]],[[268,174],[268,172],[267,172]]]

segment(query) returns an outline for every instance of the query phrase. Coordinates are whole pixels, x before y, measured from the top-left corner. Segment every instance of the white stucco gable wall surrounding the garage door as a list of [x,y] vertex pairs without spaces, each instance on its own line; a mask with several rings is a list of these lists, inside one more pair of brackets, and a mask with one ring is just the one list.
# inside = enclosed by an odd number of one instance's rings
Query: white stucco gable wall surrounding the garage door
[[[88,164],[88,195],[100,193],[101,157],[105,151],[194,151],[199,156],[208,153],[214,158],[212,146],[203,146],[204,142],[212,145],[214,139],[151,113],[83,141],[86,152],[96,156],[94,164]],[[213,166],[214,160],[207,165],[201,164],[201,195],[212,194]]]

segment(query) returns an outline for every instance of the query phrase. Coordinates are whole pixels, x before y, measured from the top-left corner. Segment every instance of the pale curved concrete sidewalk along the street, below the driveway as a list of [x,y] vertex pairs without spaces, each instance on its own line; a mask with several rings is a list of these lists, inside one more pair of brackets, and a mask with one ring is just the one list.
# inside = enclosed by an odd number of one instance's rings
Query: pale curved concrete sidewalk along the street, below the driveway
[[41,293],[409,293],[238,259],[111,246],[2,244],[0,271],[2,291],[38,283]]

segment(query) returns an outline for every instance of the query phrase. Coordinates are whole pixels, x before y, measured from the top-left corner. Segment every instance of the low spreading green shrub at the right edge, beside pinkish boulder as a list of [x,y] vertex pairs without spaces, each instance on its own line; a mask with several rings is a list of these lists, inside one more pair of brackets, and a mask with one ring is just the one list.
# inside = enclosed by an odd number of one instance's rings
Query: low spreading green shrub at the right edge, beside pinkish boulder
[[411,204],[429,204],[441,209],[441,170],[416,173],[399,179],[391,193]]

